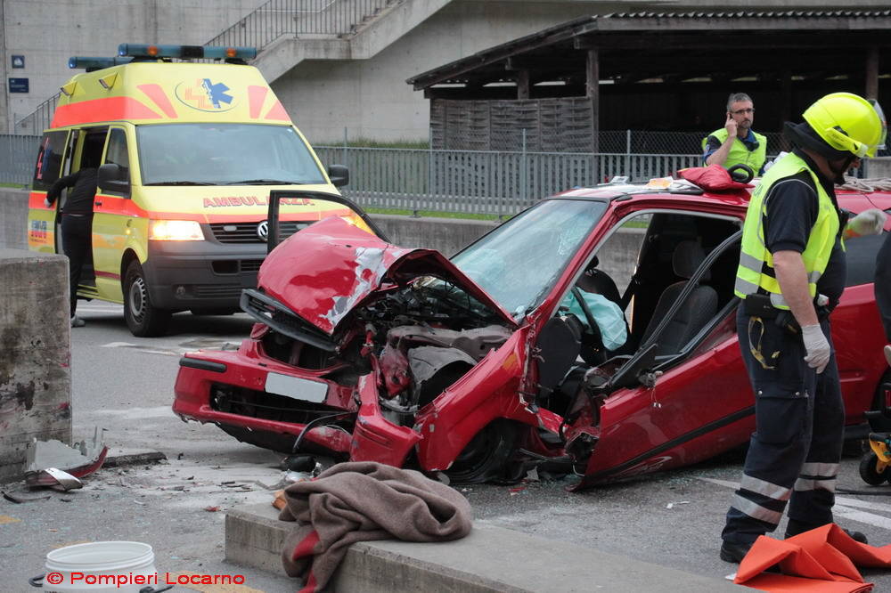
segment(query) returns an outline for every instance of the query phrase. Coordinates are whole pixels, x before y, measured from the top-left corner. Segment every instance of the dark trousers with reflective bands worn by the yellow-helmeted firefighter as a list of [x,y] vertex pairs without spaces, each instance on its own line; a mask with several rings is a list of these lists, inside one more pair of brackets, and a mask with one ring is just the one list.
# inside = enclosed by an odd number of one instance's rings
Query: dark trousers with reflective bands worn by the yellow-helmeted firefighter
[[[821,326],[831,345],[829,321]],[[772,532],[787,502],[790,522],[831,523],[845,424],[834,349],[818,375],[804,361],[800,331],[750,317],[742,306],[737,330],[755,390],[756,432],[721,537],[745,544]]]

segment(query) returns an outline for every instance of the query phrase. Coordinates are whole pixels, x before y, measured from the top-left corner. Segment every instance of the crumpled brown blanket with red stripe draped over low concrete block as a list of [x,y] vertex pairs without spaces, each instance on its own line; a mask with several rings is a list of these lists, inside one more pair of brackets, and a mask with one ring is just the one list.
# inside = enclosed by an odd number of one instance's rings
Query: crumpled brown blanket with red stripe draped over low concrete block
[[410,469],[372,461],[341,463],[284,491],[279,519],[299,521],[282,550],[284,570],[321,591],[356,541],[458,540],[470,532],[470,503]]

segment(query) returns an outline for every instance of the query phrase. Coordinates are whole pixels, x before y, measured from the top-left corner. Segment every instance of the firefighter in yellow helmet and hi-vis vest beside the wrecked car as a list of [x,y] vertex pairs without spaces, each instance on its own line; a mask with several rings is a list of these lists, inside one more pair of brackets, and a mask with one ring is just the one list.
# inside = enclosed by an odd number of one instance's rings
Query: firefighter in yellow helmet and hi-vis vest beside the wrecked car
[[845,410],[829,314],[845,287],[842,240],[879,233],[885,222],[878,209],[848,220],[833,188],[884,142],[878,103],[831,93],[803,117],[786,124],[797,148],[764,175],[743,225],[737,330],[756,432],[721,535],[727,562],[776,529],[787,502],[786,537],[832,522]]

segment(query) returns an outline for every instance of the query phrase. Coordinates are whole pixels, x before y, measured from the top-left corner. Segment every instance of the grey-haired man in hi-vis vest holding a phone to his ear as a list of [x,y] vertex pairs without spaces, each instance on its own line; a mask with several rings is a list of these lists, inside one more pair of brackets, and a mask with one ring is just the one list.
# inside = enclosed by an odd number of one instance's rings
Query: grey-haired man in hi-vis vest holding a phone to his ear
[[730,168],[742,163],[755,175],[764,174],[767,138],[752,130],[755,107],[746,93],[732,93],[727,99],[727,120],[720,130],[702,139],[702,159],[706,165]]

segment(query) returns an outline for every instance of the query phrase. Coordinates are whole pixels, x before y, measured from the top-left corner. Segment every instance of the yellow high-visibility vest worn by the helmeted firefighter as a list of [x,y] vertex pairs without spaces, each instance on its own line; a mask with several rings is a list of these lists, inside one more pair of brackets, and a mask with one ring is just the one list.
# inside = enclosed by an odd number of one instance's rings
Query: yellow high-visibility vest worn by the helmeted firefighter
[[804,159],[790,153],[767,170],[761,183],[752,192],[752,199],[746,211],[746,222],[742,225],[740,267],[736,272],[736,285],[733,289],[736,296],[745,298],[758,292],[760,288],[761,292],[771,296],[773,306],[778,309],[789,309],[777,282],[776,272],[773,270],[773,255],[764,245],[764,217],[767,215],[767,204],[764,199],[770,194],[774,183],[801,171],[807,171],[811,175],[813,185],[817,189],[817,221],[813,223],[805,251],[801,254],[807,272],[807,288],[811,296],[817,295],[817,280],[820,280],[826,265],[829,264],[832,248],[838,236],[840,224],[838,208],[829,194],[823,190],[817,175],[807,166]]

